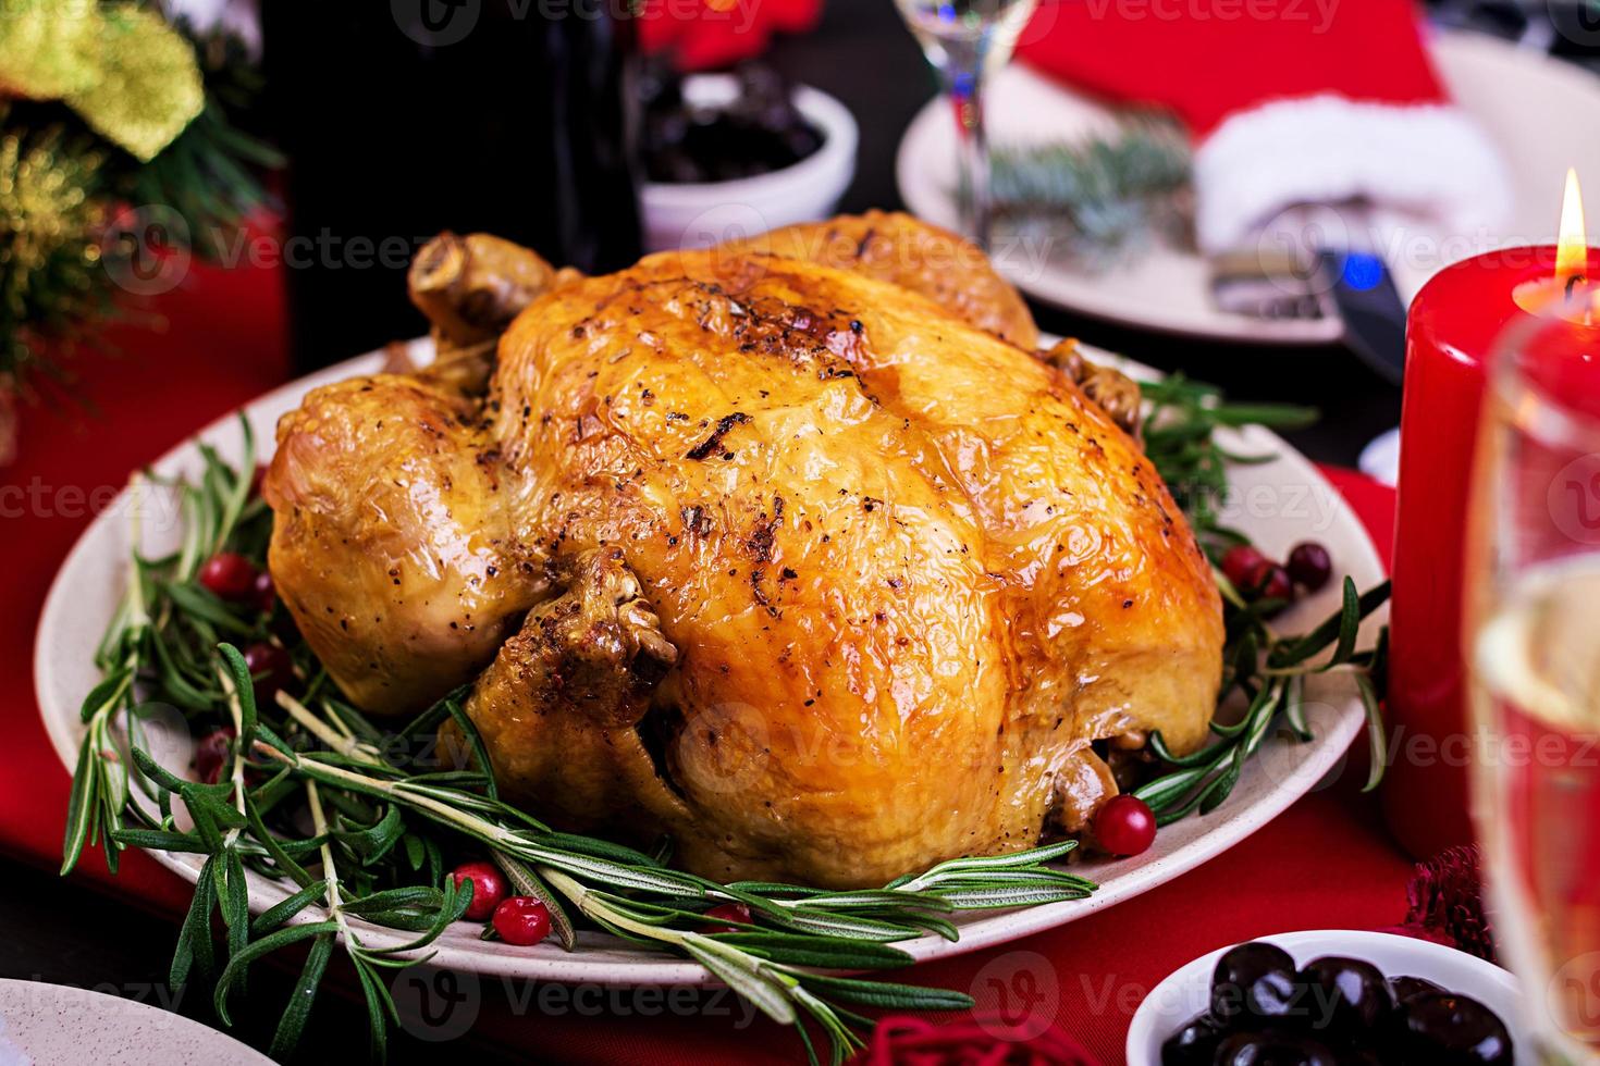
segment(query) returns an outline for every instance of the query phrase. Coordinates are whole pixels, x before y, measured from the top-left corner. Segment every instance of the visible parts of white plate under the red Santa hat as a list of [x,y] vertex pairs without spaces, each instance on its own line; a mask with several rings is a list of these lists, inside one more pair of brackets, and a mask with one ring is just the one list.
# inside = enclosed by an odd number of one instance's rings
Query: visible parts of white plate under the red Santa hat
[[[1395,286],[1406,300],[1440,267],[1512,245],[1555,240],[1562,182],[1578,169],[1600,189],[1600,78],[1573,64],[1523,51],[1493,37],[1440,34],[1430,51],[1456,102],[1499,147],[1512,182],[1514,213],[1501,232],[1440,237],[1421,227],[1389,254]],[[1014,62],[987,93],[989,136],[995,145],[1075,141],[1112,129],[1115,110]],[[955,125],[933,101],[912,120],[899,145],[901,198],[939,225],[957,224]],[[1267,321],[1230,315],[1211,304],[1208,268],[1192,249],[1152,245],[1106,267],[1074,265],[1040,254],[1038,243],[995,249],[995,265],[1029,296],[1141,329],[1214,340],[1314,345],[1339,339],[1336,320]]]

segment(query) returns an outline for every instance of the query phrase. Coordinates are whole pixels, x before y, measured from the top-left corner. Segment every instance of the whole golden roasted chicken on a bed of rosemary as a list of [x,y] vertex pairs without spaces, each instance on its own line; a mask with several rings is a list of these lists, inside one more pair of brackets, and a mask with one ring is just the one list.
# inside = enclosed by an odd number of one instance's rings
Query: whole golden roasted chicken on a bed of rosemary
[[1206,735],[1221,604],[1136,393],[1035,353],[958,238],[872,214],[584,278],[445,235],[411,288],[438,363],[278,425],[272,575],[368,711],[470,682],[531,812],[875,885],[1082,833],[1152,730]]

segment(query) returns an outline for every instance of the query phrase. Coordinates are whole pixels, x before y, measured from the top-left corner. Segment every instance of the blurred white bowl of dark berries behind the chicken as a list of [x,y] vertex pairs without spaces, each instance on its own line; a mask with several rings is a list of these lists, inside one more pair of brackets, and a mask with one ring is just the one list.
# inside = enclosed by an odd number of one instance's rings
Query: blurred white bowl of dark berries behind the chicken
[[834,214],[856,173],[856,120],[770,67],[645,78],[645,246],[709,248]]

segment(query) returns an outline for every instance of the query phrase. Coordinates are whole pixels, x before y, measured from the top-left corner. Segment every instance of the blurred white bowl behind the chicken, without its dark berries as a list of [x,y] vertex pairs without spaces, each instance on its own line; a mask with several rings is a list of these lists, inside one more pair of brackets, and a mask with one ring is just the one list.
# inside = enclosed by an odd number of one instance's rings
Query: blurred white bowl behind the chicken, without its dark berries
[[[739,80],[730,74],[698,74],[683,82],[683,99],[694,107],[728,104],[738,94]],[[795,86],[794,101],[822,134],[822,147],[794,166],[755,177],[645,182],[640,203],[648,251],[710,248],[834,214],[856,174],[856,120],[837,99],[805,85]]]

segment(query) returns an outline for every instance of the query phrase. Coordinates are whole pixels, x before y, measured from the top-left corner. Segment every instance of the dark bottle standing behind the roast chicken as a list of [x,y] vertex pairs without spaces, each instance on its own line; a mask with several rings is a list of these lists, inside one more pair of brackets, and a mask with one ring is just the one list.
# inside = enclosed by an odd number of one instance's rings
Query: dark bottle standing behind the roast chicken
[[267,107],[290,158],[294,360],[422,332],[411,254],[485,230],[555,265],[640,254],[627,0],[262,5]]

